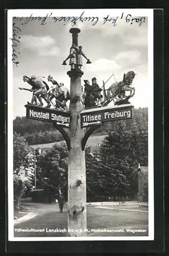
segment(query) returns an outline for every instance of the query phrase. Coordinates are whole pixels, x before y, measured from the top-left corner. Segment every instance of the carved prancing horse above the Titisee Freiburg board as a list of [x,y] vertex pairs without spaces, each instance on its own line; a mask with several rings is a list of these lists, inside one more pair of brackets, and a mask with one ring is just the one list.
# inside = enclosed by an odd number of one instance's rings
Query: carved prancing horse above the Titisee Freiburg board
[[[128,98],[131,98],[135,95],[135,87],[131,86],[132,81],[135,78],[135,72],[129,71],[127,74],[124,74],[123,81],[114,82],[109,88],[106,96],[106,104],[108,104],[111,100],[113,100],[115,104],[115,100],[119,100],[118,98],[125,97],[125,91],[130,91],[130,95]],[[117,98],[118,97],[118,98]]]

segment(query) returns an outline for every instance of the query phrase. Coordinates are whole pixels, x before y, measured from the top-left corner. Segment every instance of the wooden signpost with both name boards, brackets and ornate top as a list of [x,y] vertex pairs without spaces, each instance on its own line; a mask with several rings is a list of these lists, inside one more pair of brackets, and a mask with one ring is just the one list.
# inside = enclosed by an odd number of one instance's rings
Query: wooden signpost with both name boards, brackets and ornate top
[[[72,48],[78,48],[78,33],[80,31],[76,26],[69,30],[72,33]],[[25,107],[27,118],[53,122],[56,129],[64,136],[68,146],[68,236],[86,236],[86,164],[84,149],[87,139],[94,130],[106,121],[132,118],[133,107],[126,104],[114,108],[83,109],[81,96],[83,72],[81,65],[77,63],[81,56],[73,59],[75,58],[73,52],[74,50],[69,55],[71,70],[67,73],[70,77],[69,112],[29,104]],[[87,63],[91,63],[89,59]],[[63,64],[66,64],[65,61]]]

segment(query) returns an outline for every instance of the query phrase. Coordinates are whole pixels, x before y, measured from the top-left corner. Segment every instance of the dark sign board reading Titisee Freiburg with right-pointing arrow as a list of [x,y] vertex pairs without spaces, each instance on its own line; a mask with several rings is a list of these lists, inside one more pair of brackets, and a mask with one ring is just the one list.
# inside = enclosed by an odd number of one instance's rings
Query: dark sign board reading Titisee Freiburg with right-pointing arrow
[[122,105],[117,107],[102,107],[95,109],[85,109],[81,112],[81,126],[88,127],[99,125],[102,122],[131,119],[132,105]]

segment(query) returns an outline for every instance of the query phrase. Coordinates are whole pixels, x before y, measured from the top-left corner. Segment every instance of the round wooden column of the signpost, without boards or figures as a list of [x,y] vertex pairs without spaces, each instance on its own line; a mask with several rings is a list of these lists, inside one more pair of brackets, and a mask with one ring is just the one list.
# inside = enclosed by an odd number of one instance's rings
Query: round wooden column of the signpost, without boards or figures
[[[73,41],[78,46],[78,28],[71,28]],[[86,235],[86,165],[82,151],[84,129],[81,127],[81,76],[77,68],[68,72],[70,77],[70,150],[68,153],[68,236]]]

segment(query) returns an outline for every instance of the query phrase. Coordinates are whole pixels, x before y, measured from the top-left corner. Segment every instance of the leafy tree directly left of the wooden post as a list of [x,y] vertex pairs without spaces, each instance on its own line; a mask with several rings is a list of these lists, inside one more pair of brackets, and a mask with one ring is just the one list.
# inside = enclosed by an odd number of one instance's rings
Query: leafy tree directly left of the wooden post
[[67,198],[68,151],[66,144],[55,144],[50,150],[37,156],[37,186],[55,197],[59,188]]

